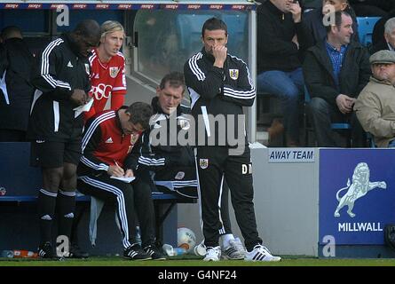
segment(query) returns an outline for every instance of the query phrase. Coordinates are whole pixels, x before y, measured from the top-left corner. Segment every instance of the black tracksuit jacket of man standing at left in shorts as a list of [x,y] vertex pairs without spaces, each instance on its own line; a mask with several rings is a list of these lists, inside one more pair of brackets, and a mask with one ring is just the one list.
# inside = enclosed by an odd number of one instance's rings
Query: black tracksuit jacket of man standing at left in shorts
[[78,55],[67,34],[47,45],[32,80],[38,91],[32,103],[28,138],[65,142],[82,136],[83,115],[75,117],[76,105],[70,97],[75,89],[91,90],[89,73],[89,62]]

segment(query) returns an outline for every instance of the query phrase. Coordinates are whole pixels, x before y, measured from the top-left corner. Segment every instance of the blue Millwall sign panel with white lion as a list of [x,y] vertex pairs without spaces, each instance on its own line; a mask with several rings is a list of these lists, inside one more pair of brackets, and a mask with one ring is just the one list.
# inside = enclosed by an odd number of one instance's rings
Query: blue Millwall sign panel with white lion
[[395,149],[320,149],[320,244],[382,245],[395,223]]

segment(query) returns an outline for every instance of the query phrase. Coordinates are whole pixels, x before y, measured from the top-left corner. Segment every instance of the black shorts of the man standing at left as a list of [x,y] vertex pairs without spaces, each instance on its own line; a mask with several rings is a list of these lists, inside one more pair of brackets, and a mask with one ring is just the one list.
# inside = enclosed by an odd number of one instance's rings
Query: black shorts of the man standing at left
[[81,158],[81,138],[67,142],[32,141],[30,165],[42,168],[60,168],[63,163],[78,165]]

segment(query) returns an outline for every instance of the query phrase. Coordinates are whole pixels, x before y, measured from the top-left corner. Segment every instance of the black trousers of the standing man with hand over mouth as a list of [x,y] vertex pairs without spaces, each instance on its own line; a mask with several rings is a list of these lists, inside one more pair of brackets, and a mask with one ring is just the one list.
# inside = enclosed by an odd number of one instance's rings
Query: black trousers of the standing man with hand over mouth
[[203,221],[204,244],[217,247],[220,222],[220,195],[223,178],[229,185],[232,205],[237,224],[241,229],[247,249],[262,243],[257,233],[254,211],[254,190],[249,146],[241,155],[229,155],[225,146],[203,146],[197,148],[196,162],[201,193],[201,217]]

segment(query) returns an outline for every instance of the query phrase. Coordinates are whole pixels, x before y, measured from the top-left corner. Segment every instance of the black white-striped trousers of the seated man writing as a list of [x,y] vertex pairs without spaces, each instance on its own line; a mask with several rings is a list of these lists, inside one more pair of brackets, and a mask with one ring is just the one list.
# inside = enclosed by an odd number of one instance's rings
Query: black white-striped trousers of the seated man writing
[[151,186],[148,183],[137,178],[127,184],[110,178],[104,172],[99,176],[78,177],[77,188],[86,195],[115,203],[123,236],[123,248],[129,248],[137,242],[137,220],[143,248],[154,244],[154,202],[151,196]]

